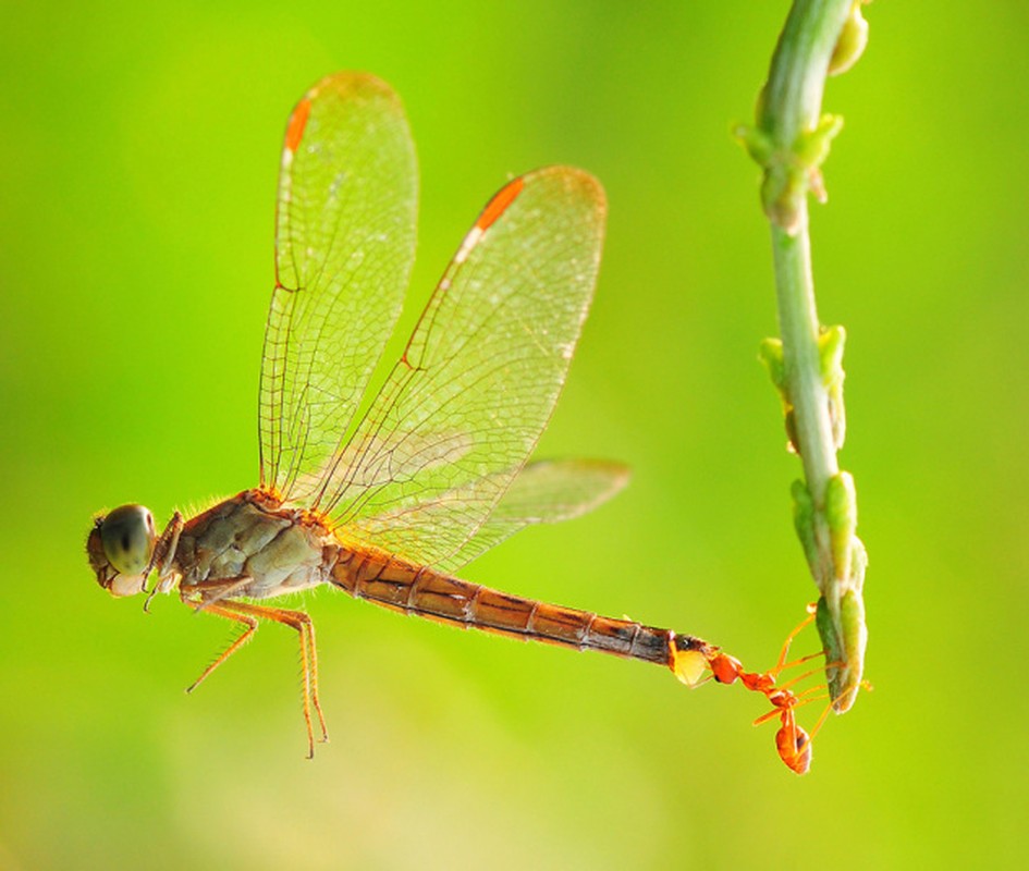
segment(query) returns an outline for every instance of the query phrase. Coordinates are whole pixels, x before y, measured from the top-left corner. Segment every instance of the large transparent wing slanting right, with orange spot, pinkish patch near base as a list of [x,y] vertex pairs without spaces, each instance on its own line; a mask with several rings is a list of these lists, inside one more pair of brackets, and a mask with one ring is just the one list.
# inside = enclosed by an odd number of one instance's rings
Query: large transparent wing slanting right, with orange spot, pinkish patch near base
[[460,559],[553,410],[604,216],[599,183],[567,167],[516,179],[490,200],[315,507],[413,562]]

